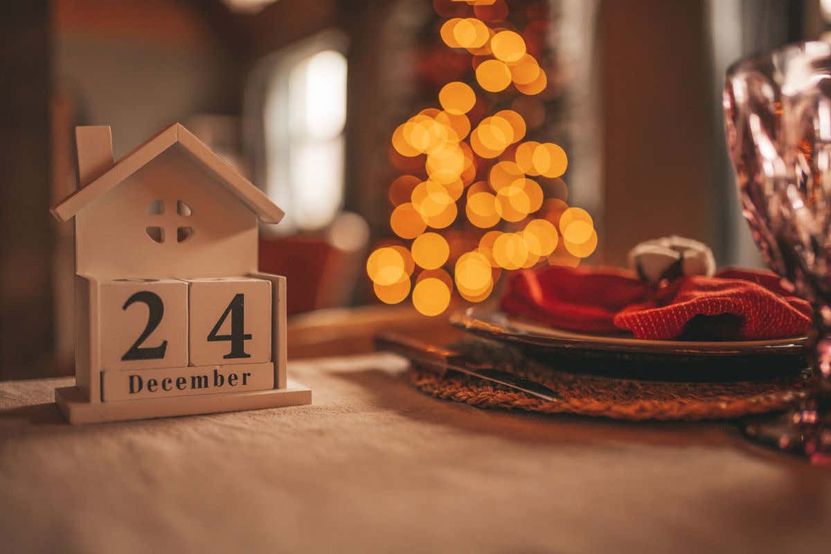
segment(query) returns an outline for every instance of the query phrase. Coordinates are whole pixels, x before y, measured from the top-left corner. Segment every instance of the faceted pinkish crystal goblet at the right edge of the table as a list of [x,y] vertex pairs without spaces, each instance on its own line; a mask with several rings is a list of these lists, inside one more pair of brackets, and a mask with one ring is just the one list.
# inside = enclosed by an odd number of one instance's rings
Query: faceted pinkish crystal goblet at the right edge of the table
[[727,148],[753,238],[784,285],[814,306],[813,394],[751,438],[831,463],[831,44],[736,62],[724,91]]

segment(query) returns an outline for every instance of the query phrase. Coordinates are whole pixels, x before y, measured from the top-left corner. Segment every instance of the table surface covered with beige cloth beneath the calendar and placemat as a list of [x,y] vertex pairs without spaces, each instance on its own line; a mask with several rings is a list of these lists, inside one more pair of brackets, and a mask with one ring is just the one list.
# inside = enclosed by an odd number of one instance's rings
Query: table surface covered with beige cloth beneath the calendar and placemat
[[730,424],[487,411],[389,354],[293,361],[311,406],[71,427],[0,383],[4,552],[828,552],[831,472]]

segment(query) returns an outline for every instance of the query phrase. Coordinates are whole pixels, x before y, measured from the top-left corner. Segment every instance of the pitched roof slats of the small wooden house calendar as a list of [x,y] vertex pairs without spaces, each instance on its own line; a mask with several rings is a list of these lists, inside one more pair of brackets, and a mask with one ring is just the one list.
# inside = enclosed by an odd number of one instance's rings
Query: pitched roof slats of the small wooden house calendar
[[251,184],[248,179],[227,164],[223,159],[214,154],[208,146],[197,139],[196,136],[179,123],[170,125],[167,129],[155,135],[152,139],[139,146],[137,149],[126,154],[116,164],[101,175],[98,179],[87,184],[83,189],[76,190],[66,199],[61,200],[52,209],[52,215],[60,221],[69,221],[76,213],[85,208],[87,204],[106,194],[107,191],[115,189],[124,179],[130,177],[136,171],[150,163],[165,150],[173,145],[179,144],[194,156],[207,169],[210,169],[222,183],[234,194],[248,209],[257,214],[265,223],[279,223],[283,219],[283,210],[263,194],[263,191]]

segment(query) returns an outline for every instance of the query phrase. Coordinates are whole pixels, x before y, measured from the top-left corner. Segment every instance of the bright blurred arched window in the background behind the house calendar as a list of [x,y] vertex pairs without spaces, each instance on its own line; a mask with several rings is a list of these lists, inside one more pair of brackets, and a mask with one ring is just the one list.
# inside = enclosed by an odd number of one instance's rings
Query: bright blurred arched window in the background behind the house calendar
[[[347,58],[340,35],[313,37],[254,72],[262,121],[255,179],[286,212],[281,233],[332,223],[344,187]],[[255,117],[254,120],[257,120]]]

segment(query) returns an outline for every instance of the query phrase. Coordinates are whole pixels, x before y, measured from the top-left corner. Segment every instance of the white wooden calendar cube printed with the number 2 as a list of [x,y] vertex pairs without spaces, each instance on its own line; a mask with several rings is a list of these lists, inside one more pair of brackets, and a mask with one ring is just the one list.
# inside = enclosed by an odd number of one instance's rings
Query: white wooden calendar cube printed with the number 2
[[188,365],[188,286],[175,279],[100,282],[101,368]]

